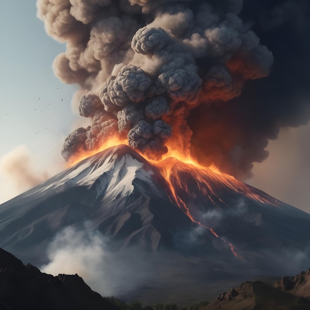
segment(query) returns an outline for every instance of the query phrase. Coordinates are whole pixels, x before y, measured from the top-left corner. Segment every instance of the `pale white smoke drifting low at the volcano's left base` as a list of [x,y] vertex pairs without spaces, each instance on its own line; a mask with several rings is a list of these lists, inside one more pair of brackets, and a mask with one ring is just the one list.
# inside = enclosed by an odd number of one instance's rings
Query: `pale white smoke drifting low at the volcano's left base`
[[[40,270],[52,275],[78,274],[102,296],[120,296],[134,291],[152,278],[141,251],[108,250],[108,239],[99,231],[68,226],[48,246],[50,262]],[[130,285],[128,285],[130,281]]]

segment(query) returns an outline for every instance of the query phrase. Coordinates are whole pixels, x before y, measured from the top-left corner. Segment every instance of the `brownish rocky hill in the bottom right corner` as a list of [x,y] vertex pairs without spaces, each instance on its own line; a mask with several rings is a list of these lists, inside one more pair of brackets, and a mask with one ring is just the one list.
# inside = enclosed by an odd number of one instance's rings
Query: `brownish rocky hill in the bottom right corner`
[[244,282],[221,294],[204,310],[308,310],[310,300],[299,297],[260,281]]

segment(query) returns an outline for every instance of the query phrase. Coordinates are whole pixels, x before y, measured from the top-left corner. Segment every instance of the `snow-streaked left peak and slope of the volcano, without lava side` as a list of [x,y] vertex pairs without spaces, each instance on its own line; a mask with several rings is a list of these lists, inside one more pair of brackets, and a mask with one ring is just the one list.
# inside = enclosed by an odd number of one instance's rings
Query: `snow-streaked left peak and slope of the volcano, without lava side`
[[156,251],[161,243],[169,246],[171,230],[192,225],[167,190],[143,157],[125,146],[110,149],[1,205],[0,244],[32,261],[26,252],[44,251],[57,231],[82,228],[87,220],[111,236],[114,246],[143,243]]

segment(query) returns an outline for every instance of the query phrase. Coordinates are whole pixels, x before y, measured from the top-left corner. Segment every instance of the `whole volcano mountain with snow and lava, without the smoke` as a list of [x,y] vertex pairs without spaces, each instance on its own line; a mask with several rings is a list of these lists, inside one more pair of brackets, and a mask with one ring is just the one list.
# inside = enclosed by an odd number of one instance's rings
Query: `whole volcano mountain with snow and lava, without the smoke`
[[310,264],[310,214],[216,169],[176,158],[152,163],[125,145],[0,205],[0,247],[23,261],[48,263],[48,247],[66,227],[99,232],[109,253],[143,260],[161,290],[186,279],[206,294],[202,283],[210,280],[213,288],[214,280],[229,286]]

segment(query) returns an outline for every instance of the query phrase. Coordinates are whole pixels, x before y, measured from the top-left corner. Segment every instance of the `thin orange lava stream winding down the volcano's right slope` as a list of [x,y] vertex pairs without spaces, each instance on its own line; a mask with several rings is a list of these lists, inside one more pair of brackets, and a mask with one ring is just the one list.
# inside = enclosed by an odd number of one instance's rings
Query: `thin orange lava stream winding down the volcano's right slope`
[[[191,169],[192,171],[192,174],[195,174],[196,172],[196,169],[202,169],[200,166],[197,167],[195,165],[193,165],[193,163],[195,163],[194,160],[190,159],[189,160],[191,163],[184,163],[182,161],[179,161],[178,159],[176,158],[169,158],[169,159],[166,159],[166,160],[163,160],[159,163],[156,164],[156,166],[159,168],[162,176],[166,179],[167,181],[167,184],[169,186],[169,189],[171,191],[171,194],[172,194],[172,197],[173,197],[173,200],[176,202],[177,206],[184,211],[184,213],[192,220],[192,222],[208,229],[216,238],[219,238],[220,240],[222,240],[223,242],[227,243],[229,245],[229,248],[232,252],[232,254],[238,258],[238,255],[234,249],[234,246],[227,242],[225,239],[223,239],[222,237],[219,237],[218,234],[210,227],[206,226],[205,224],[203,224],[202,222],[198,221],[198,220],[195,220],[194,217],[192,216],[192,214],[190,213],[190,210],[189,208],[186,206],[186,204],[184,203],[184,201],[180,198],[179,195],[177,195],[176,193],[176,189],[175,189],[175,186],[173,185],[172,183],[172,168],[175,166],[175,164],[177,163],[178,165],[184,165],[185,169],[188,170],[188,169]],[[179,187],[182,188],[182,184],[180,183],[180,180],[179,181]],[[189,191],[187,189],[185,189],[187,193],[189,193]]]

